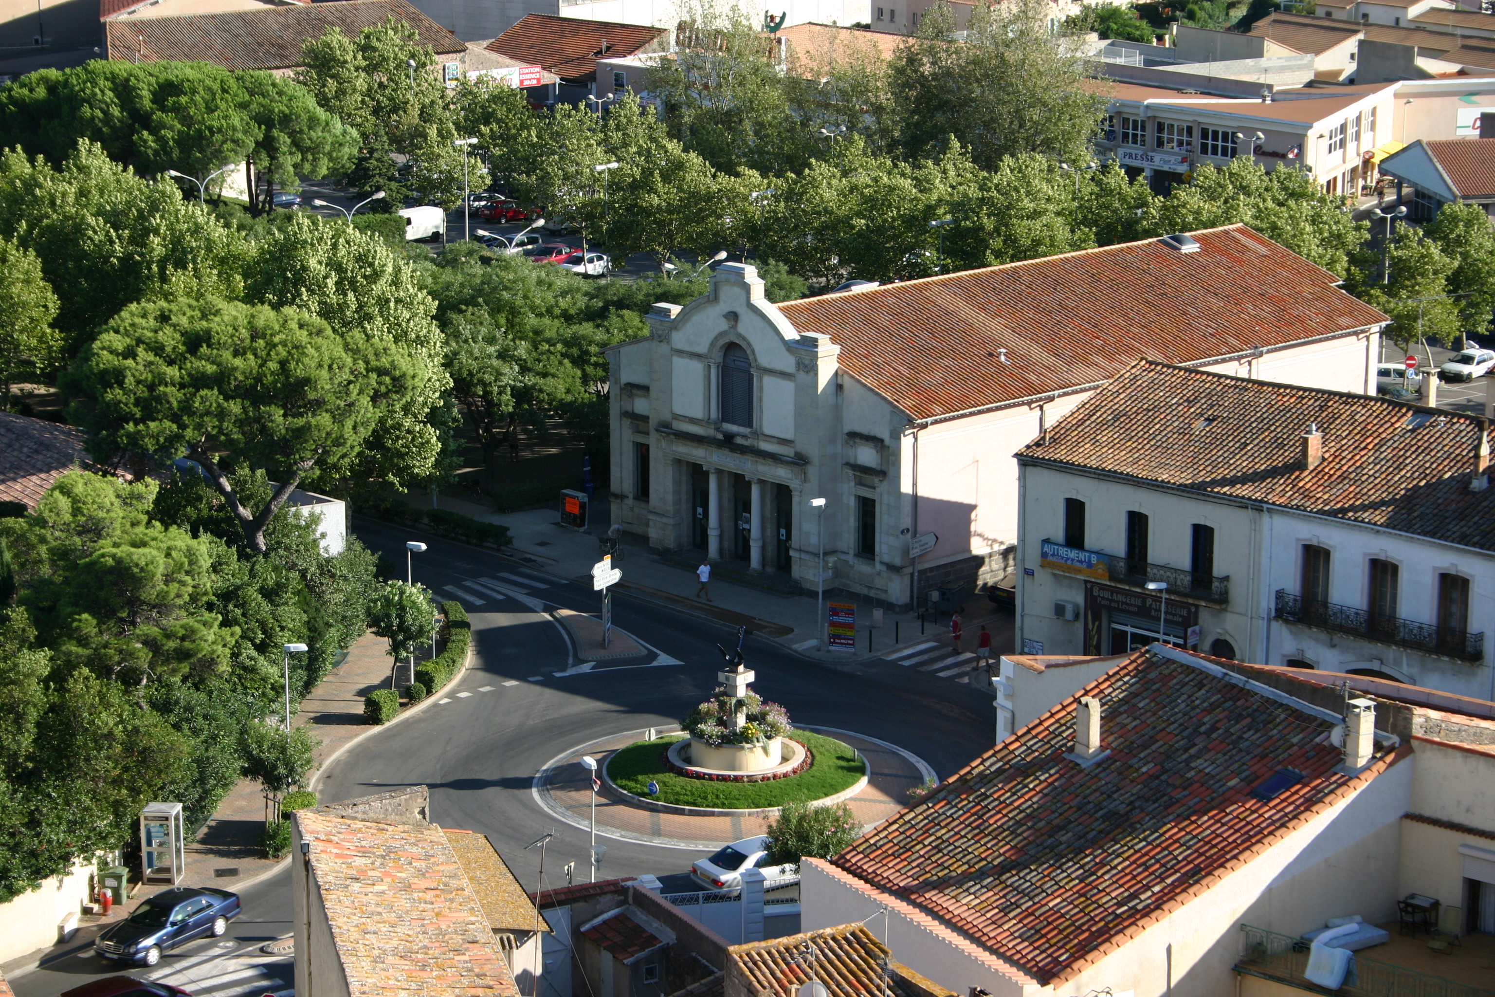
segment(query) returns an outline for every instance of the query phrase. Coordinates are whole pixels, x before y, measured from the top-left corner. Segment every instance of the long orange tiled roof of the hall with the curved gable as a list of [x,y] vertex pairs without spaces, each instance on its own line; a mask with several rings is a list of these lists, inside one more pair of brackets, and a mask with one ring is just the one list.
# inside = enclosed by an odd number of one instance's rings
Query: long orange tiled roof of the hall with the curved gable
[[1387,321],[1245,226],[1193,236],[1199,253],[1147,239],[779,311],[830,335],[848,372],[915,419],[1099,384],[1139,356],[1196,363]]

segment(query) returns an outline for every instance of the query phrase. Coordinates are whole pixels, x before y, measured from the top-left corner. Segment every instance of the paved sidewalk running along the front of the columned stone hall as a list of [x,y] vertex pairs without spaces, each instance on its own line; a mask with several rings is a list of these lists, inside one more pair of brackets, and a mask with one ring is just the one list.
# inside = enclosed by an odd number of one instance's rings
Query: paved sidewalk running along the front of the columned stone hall
[[[431,496],[426,493],[410,493],[404,498],[413,505],[431,505]],[[608,525],[608,502],[605,499],[592,502],[592,526],[588,532],[561,526],[555,508],[493,513],[489,507],[457,496],[443,495],[440,501],[441,508],[508,526],[513,546],[507,549],[507,553],[535,571],[588,580],[592,575],[592,565],[601,559],[598,538],[605,534]],[[921,628],[918,614],[890,610],[882,613],[882,625],[873,626],[876,611],[870,605],[855,596],[836,596],[836,601],[857,604],[857,647],[855,650],[821,650],[816,634],[819,614],[815,595],[774,590],[773,586],[786,584],[782,575],[765,572],[749,577],[746,568],[739,567],[740,564],[724,561],[712,565],[712,601],[707,602],[695,595],[698,583],[694,564],[661,558],[634,538],[625,538],[622,550],[613,559],[613,567],[623,572],[614,592],[650,599],[727,626],[748,626],[753,634],[774,640],[798,655],[827,662],[888,658],[898,649],[910,649],[931,641],[940,647],[951,646],[948,616],[936,617],[931,613]],[[830,601],[831,596],[827,596],[825,602]],[[961,620],[966,631],[966,652],[975,650],[976,632],[985,623],[993,634],[993,655],[1012,653],[1014,620],[1011,611],[999,610],[985,595],[978,593],[966,602]]]

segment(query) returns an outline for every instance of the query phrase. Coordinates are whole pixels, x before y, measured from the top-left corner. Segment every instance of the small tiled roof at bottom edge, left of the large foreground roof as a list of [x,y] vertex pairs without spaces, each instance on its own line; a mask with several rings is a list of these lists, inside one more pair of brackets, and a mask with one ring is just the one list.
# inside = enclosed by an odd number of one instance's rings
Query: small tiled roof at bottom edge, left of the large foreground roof
[[952,991],[893,961],[893,954],[861,924],[731,946],[728,972],[743,984],[734,985],[734,993],[795,997],[810,981],[806,949],[813,954],[815,979],[825,984],[831,997],[954,997]]

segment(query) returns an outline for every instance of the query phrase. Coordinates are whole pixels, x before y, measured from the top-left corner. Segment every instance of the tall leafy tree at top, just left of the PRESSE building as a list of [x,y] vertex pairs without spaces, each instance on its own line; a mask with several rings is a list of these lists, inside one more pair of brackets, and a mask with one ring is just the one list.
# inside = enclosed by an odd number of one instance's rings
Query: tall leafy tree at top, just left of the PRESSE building
[[985,169],[1015,152],[1090,161],[1105,100],[1070,33],[1049,30],[1048,9],[1042,0],[976,4],[963,43],[949,3],[924,13],[890,67],[904,155],[955,139]]

